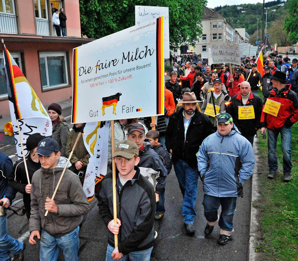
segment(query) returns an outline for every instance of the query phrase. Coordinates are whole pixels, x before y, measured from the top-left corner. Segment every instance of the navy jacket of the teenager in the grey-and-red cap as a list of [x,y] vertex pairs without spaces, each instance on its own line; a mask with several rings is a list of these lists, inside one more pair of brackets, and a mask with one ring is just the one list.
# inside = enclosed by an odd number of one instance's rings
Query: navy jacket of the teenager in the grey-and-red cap
[[144,142],[144,147],[139,151],[140,162],[138,167],[151,168],[159,172],[159,177],[156,178],[157,184],[155,187],[155,192],[162,193],[167,179],[167,169],[158,154],[151,149],[151,144],[149,142]]

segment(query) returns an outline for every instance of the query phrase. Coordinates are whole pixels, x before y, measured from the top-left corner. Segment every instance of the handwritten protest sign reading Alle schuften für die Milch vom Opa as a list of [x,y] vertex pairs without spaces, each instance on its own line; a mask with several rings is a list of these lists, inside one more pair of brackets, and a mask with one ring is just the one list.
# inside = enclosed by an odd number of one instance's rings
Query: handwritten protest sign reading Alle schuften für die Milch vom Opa
[[213,63],[241,64],[238,43],[213,43],[211,52]]

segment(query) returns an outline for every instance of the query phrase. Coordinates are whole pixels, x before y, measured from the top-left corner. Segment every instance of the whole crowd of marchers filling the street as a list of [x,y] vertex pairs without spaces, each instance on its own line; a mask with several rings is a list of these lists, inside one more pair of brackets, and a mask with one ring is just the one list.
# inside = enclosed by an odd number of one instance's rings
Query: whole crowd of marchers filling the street
[[[172,56],[173,58],[173,56]],[[211,64],[198,56],[174,57],[170,80],[164,87],[164,114],[114,122],[108,140],[108,171],[95,188],[99,215],[108,228],[106,260],[150,260],[157,232],[154,220],[164,217],[167,175],[172,166],[181,190],[181,225],[195,233],[198,180],[203,183],[205,236],[219,226],[218,243],[231,239],[233,215],[243,184],[254,169],[253,142],[257,130],[267,133],[268,178],[277,175],[277,137],[281,134],[283,178],[291,181],[291,127],[298,120],[297,59],[264,57],[264,75],[257,71],[256,57],[241,64]],[[281,64],[280,64],[281,63]],[[263,100],[257,95],[262,89]],[[266,102],[280,104],[272,115]],[[249,110],[250,114],[243,114]],[[39,259],[78,260],[79,229],[89,203],[82,185],[89,154],[80,137],[85,124],[69,131],[59,104],[48,107],[52,137],[28,137],[24,161],[13,165],[0,153],[0,260],[24,259],[25,244],[7,234],[7,209],[16,192],[23,194],[29,220],[30,244],[40,240]],[[55,198],[53,192],[70,158]],[[117,222],[114,222],[112,161],[116,164]],[[218,213],[221,206],[221,213]],[[1,210],[1,209],[0,209]],[[45,217],[45,212],[49,214]],[[238,231],[241,233],[241,231]],[[118,235],[115,242],[114,235]]]

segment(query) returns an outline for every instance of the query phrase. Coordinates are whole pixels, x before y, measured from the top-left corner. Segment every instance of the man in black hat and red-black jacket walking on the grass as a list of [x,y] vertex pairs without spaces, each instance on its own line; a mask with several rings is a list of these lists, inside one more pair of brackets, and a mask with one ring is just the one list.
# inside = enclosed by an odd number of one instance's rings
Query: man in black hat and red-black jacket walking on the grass
[[298,97],[294,91],[290,90],[291,84],[285,84],[286,74],[284,72],[276,71],[270,78],[273,89],[269,91],[266,103],[273,101],[273,106],[277,107],[277,115],[274,116],[262,111],[261,116],[261,134],[266,133],[266,128],[268,132],[269,175],[267,177],[272,179],[277,175],[276,145],[280,133],[283,148],[284,181],[288,182],[291,181],[291,137],[292,125],[298,121]]

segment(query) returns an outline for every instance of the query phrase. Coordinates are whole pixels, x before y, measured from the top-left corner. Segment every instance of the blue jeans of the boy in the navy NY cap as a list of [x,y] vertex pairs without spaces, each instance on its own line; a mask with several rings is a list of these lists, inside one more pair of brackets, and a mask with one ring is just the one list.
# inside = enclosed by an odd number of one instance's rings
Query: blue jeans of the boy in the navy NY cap
[[62,249],[64,260],[78,261],[79,251],[79,226],[62,237],[53,237],[44,230],[41,230],[40,239],[40,261],[56,261],[60,249]]

